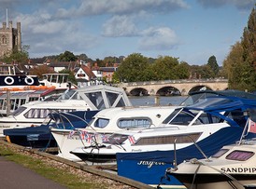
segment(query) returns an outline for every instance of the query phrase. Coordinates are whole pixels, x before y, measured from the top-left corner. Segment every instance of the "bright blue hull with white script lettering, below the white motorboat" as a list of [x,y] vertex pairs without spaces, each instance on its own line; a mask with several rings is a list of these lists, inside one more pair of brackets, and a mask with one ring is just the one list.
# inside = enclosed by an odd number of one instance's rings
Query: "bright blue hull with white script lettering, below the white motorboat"
[[[229,127],[222,128],[218,132],[197,142],[204,153],[214,155],[223,145],[234,143],[240,140],[243,128]],[[256,137],[256,134],[249,133],[247,138]],[[185,159],[204,158],[194,145],[177,150],[178,164]],[[148,184],[159,184],[165,175],[165,170],[172,167],[174,151],[154,151],[145,153],[118,153],[117,166],[120,176]],[[151,165],[151,166],[149,166]],[[182,185],[174,177],[170,181],[164,179],[162,182],[170,185]]]

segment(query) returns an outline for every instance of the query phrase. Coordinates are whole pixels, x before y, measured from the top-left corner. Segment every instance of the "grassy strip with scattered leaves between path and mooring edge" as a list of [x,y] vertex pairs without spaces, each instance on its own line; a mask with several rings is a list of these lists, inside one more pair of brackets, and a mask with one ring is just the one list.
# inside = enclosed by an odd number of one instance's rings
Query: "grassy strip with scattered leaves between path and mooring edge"
[[32,169],[43,177],[58,182],[67,188],[114,188],[113,186],[115,185],[111,181],[105,181],[104,178],[4,145],[0,146],[0,155],[25,168]]

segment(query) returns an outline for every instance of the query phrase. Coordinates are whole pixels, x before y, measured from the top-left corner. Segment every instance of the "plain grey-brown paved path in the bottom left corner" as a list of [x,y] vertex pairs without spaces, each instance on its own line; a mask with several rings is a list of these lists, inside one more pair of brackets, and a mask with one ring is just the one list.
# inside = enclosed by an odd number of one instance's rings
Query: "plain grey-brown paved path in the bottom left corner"
[[46,179],[31,169],[0,156],[1,188],[8,189],[66,189],[64,186]]

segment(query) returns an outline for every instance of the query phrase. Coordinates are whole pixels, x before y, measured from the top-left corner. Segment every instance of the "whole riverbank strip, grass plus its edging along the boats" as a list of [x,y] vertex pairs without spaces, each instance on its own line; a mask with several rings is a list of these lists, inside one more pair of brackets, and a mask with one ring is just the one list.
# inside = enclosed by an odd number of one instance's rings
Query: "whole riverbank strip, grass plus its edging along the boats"
[[94,169],[89,166],[67,161],[56,155],[27,149],[5,142],[4,140],[0,140],[0,143],[1,156],[9,161],[21,164],[25,168],[32,169],[36,174],[58,182],[66,188],[152,188],[146,184],[122,178],[100,168]]

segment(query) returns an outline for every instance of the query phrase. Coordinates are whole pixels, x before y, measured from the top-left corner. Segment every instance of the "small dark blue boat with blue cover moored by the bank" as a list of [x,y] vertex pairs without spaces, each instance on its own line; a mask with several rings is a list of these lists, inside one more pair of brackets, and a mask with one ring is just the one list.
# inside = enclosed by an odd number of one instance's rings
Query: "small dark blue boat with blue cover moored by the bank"
[[86,128],[92,117],[99,111],[60,112],[48,115],[39,127],[4,129],[8,142],[26,147],[46,148],[57,147],[50,133],[51,128]]

